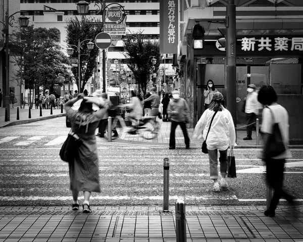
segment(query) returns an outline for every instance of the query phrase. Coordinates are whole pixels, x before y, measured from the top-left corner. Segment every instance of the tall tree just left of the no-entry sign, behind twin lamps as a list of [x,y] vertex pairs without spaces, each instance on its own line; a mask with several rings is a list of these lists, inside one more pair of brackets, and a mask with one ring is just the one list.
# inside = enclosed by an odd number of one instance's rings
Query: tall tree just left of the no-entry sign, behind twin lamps
[[[84,41],[85,39],[91,39],[92,42],[94,42],[95,36],[102,31],[102,24],[98,24],[100,21],[95,18],[87,18],[86,16],[81,16],[81,19],[79,20],[77,17],[73,19],[69,19],[67,21],[66,28],[66,42],[68,45],[76,45],[78,46],[78,40],[80,42],[83,41],[83,44],[81,44],[80,48],[80,79],[81,79],[81,92],[84,89],[84,86],[88,79],[93,75],[94,67],[95,67],[95,60],[96,57],[99,54],[99,49],[97,46],[94,46],[92,50],[87,50],[86,43],[87,41]],[[76,52],[76,47],[71,46],[75,51],[74,54],[71,57],[77,58],[78,52]],[[73,67],[72,72],[75,77],[78,77],[78,68]],[[77,81],[77,85],[79,83],[79,80]]]

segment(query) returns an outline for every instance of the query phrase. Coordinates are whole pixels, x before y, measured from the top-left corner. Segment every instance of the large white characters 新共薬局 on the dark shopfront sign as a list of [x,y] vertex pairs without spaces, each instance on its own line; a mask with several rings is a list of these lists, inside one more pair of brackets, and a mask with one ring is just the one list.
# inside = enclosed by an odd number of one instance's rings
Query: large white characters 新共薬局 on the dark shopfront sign
[[244,52],[303,51],[303,37],[244,37],[240,41]]

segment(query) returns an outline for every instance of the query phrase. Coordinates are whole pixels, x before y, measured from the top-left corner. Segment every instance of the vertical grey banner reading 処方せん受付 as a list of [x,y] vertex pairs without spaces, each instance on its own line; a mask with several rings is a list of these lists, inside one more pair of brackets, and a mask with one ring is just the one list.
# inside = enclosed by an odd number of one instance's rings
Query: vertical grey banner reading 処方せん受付
[[178,0],[160,1],[160,53],[178,54]]

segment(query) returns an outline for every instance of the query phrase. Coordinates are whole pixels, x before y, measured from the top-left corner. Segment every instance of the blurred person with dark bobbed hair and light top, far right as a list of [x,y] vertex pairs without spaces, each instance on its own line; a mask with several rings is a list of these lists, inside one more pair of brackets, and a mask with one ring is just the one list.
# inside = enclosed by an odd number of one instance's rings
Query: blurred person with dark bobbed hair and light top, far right
[[[288,113],[284,107],[277,103],[277,94],[274,88],[270,85],[263,86],[258,94],[258,101],[265,105],[266,108],[262,112],[262,127],[264,148],[262,159],[266,163],[266,179],[268,185],[274,188],[269,209],[264,212],[266,216],[274,217],[275,209],[281,197],[285,198],[290,204],[293,202],[293,197],[289,195],[283,187],[283,173],[285,159],[291,158],[287,146],[289,143],[289,123]],[[267,157],[265,152],[270,141],[270,135],[274,132],[273,126],[278,123],[285,151],[277,151],[276,156]]]

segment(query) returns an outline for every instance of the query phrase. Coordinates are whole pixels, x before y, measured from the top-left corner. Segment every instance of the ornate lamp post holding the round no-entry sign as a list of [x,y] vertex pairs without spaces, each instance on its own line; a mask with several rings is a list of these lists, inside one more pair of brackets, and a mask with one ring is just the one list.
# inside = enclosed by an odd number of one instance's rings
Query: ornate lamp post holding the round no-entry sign
[[[98,4],[100,4],[100,6],[102,6],[101,8],[98,6]],[[77,4],[77,11],[79,14],[81,15],[84,15],[84,14],[87,14],[88,11],[89,11],[89,3],[85,2],[85,1],[80,1],[78,2]],[[102,32],[104,32],[104,24],[106,23],[105,21],[105,9],[108,8],[109,9],[109,6],[111,5],[117,5],[119,6],[120,9],[122,9],[122,16],[120,18],[119,21],[117,21],[116,23],[117,24],[120,24],[122,23],[125,18],[126,18],[126,14],[125,14],[125,11],[124,11],[124,7],[121,5],[121,4],[117,4],[117,3],[112,3],[112,4],[109,4],[109,5],[106,5],[106,0],[95,0],[95,6],[97,6],[99,9],[97,10],[97,15],[102,15]],[[103,92],[106,92],[106,53],[105,53],[105,49],[102,50],[102,66],[103,66]]]

